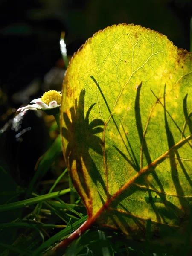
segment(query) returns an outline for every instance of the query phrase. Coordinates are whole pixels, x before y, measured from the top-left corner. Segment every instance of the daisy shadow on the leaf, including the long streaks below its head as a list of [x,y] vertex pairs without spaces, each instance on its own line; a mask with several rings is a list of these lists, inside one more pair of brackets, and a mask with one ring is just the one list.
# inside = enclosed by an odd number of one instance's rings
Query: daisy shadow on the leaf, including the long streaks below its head
[[63,119],[67,128],[62,127],[62,135],[69,142],[65,151],[68,168],[71,169],[73,161],[76,161],[79,180],[81,180],[81,184],[84,186],[88,196],[88,187],[87,189],[85,188],[85,186],[87,186],[86,178],[82,171],[82,160],[93,182],[95,184],[97,182],[101,183],[105,189],[102,176],[89,153],[89,149],[91,148],[97,154],[103,155],[102,139],[96,134],[104,131],[104,128],[101,127],[104,126],[104,122],[101,119],[93,119],[93,121],[89,123],[90,112],[96,103],[90,106],[85,116],[84,96],[85,90],[81,90],[79,101],[77,102],[76,99],[75,106],[70,108],[71,120],[67,116],[67,113],[63,113]]

